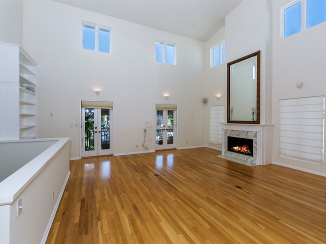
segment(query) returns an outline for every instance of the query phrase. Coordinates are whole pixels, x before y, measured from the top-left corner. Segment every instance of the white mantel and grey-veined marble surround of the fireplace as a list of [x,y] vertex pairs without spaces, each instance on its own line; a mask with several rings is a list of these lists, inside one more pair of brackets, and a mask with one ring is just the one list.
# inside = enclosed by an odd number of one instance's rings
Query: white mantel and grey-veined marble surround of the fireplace
[[[250,166],[272,163],[272,124],[222,123],[222,158]],[[228,136],[253,139],[253,156],[228,151]]]

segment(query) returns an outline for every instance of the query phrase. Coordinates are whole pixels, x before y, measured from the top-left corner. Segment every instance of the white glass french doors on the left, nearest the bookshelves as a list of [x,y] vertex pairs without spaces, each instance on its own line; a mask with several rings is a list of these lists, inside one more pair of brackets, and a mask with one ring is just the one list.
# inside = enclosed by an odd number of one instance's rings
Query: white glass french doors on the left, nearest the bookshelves
[[82,157],[112,154],[112,109],[82,108]]

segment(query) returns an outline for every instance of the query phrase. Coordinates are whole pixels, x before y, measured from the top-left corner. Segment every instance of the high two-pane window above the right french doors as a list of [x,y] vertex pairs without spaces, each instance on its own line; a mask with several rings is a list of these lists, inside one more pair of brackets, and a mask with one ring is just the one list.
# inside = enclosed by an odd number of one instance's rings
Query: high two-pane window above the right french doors
[[176,46],[166,42],[155,42],[155,60],[169,64],[176,64]]

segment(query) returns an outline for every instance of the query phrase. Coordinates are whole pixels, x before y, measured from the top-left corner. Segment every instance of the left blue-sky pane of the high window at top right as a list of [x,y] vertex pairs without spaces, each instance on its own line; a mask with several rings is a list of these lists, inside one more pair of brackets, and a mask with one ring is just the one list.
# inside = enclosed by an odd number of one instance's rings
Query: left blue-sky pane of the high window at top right
[[284,9],[284,37],[301,29],[301,1]]

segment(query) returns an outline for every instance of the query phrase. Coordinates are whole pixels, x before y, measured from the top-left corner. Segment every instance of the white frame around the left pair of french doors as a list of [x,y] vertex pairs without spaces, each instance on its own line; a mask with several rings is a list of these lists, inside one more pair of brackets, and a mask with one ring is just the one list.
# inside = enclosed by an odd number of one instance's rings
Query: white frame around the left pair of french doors
[[[83,143],[84,143],[84,138],[83,138],[83,129],[82,129],[82,106],[81,102],[82,101],[109,101],[109,100],[89,100],[89,99],[81,99],[79,101],[79,158],[70,158],[70,160],[74,159],[81,159],[82,158],[82,152],[83,152]],[[112,116],[113,119],[111,120],[110,116],[110,130],[112,130],[111,138],[110,138],[110,145],[112,145],[112,155],[115,155],[115,142],[114,142],[114,137],[115,137],[115,129],[114,129],[114,101],[109,101],[113,102],[113,108],[112,108]],[[111,140],[113,143],[111,143]],[[110,154],[111,155],[111,154]]]

